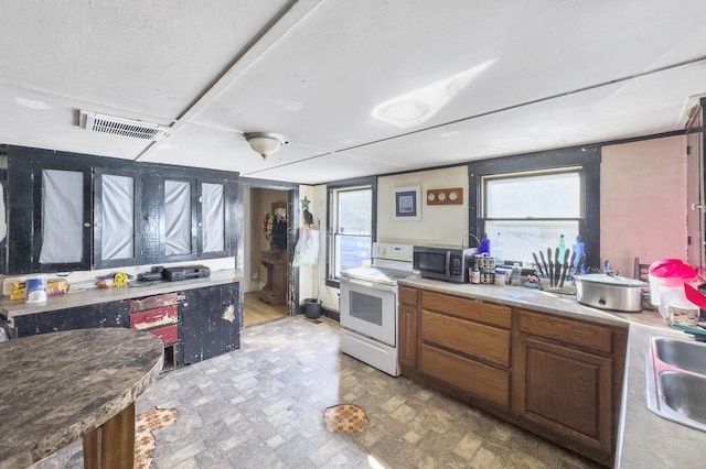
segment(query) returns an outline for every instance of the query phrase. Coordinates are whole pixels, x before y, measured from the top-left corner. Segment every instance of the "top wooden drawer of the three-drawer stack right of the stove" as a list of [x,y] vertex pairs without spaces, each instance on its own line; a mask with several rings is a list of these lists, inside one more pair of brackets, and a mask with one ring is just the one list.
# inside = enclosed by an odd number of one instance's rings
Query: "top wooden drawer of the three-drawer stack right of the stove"
[[510,329],[512,323],[511,309],[507,306],[493,305],[475,299],[460,298],[439,293],[422,292],[421,307],[424,309],[448,313],[463,319]]

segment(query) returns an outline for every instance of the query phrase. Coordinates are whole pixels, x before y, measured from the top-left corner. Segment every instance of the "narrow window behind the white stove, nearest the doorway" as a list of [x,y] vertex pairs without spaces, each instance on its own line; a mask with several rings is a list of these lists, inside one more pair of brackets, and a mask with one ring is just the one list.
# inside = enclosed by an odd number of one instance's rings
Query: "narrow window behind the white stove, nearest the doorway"
[[[366,178],[370,181],[370,178]],[[375,219],[375,185],[329,187],[328,279],[346,269],[370,265]]]

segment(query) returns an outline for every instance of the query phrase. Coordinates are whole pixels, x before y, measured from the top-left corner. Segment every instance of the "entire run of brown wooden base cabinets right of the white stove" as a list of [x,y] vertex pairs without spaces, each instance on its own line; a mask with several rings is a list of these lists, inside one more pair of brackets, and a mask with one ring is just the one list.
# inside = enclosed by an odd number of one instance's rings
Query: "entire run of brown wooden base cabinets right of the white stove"
[[403,375],[612,466],[628,329],[400,285]]

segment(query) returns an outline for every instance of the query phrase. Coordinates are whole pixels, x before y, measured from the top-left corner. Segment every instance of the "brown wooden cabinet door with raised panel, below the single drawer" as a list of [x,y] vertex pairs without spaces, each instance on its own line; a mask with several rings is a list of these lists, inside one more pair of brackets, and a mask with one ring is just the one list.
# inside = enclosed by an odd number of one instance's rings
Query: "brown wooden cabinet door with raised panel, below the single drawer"
[[528,337],[518,342],[517,412],[554,435],[610,455],[612,360]]

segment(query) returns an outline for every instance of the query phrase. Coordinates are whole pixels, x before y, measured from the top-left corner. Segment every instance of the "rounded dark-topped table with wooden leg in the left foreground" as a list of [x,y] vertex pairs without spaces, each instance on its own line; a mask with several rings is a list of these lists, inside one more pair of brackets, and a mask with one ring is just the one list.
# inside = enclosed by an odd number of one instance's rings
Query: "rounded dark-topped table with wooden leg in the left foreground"
[[0,469],[83,437],[86,468],[132,468],[135,400],[162,369],[147,331],[98,328],[0,342]]

